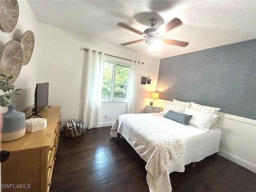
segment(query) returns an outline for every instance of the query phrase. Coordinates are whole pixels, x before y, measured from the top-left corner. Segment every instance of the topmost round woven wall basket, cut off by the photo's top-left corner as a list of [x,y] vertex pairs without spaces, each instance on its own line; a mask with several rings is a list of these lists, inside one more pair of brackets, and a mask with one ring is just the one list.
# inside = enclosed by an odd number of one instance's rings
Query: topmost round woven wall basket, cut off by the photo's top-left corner
[[19,17],[17,0],[0,0],[0,27],[5,32],[12,32]]

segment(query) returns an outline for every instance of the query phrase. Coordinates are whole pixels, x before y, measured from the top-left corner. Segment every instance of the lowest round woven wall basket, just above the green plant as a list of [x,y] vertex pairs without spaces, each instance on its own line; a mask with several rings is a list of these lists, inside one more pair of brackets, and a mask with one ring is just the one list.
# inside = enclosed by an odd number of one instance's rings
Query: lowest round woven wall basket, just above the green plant
[[13,75],[9,81],[12,85],[20,74],[23,62],[23,54],[20,43],[15,40],[8,41],[0,53],[0,71],[6,77]]

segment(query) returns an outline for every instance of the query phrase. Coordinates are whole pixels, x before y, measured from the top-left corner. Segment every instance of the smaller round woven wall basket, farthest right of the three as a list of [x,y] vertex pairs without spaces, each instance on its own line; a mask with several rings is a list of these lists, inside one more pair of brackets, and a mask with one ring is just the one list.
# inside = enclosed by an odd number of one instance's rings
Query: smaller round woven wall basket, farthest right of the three
[[28,64],[32,56],[34,45],[35,45],[35,36],[34,33],[30,30],[24,32],[20,37],[20,45],[23,52],[23,63],[22,65]]

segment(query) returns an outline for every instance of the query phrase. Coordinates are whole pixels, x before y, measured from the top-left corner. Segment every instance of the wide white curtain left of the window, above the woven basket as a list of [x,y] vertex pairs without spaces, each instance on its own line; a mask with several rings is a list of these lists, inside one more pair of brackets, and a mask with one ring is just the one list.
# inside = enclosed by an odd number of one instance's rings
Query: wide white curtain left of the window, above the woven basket
[[104,53],[89,48],[84,53],[80,102],[80,119],[88,129],[97,127],[99,123],[103,67]]

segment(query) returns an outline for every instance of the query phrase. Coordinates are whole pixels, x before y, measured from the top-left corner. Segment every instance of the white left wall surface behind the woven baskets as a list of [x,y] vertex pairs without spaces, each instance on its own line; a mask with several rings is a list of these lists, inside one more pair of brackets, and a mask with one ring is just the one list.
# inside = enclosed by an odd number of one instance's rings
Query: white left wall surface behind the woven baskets
[[[18,41],[22,34],[31,30],[35,36],[35,46],[30,62],[22,66],[20,75],[14,82],[15,88],[22,88],[20,95],[14,97],[16,110],[24,111],[34,104],[34,92],[36,88],[36,60],[37,60],[37,20],[27,1],[18,0],[19,18],[16,27],[10,33],[0,30],[0,48],[10,40]],[[6,112],[7,108],[1,108]]]

